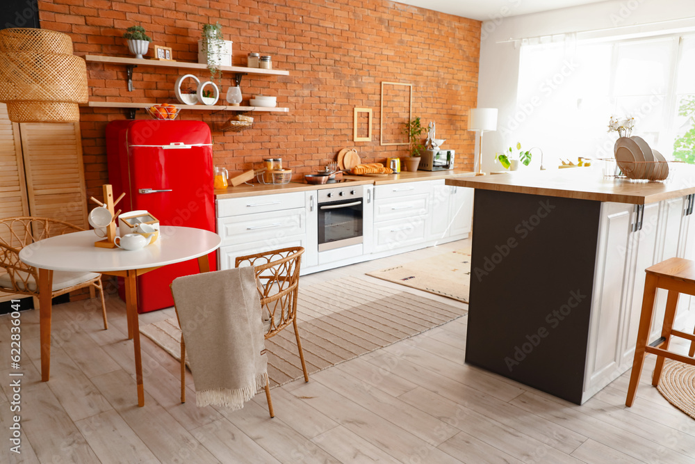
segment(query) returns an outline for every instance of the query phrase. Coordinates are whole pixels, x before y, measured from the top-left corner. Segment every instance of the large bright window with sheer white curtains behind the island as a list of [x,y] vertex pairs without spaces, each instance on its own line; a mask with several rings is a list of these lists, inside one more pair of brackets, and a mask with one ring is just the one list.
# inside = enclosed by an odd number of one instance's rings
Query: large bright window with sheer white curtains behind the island
[[695,163],[695,36],[523,45],[516,106],[507,138],[548,157],[612,157],[616,114],[668,159]]

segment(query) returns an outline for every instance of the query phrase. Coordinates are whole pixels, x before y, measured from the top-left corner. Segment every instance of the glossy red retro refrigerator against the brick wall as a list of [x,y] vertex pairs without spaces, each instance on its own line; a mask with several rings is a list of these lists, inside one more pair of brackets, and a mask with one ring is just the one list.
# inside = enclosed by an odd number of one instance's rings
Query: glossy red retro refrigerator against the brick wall
[[[119,120],[106,126],[108,178],[123,212],[146,209],[161,225],[215,232],[213,150],[201,121]],[[216,255],[209,255],[211,270]],[[138,312],[171,307],[172,280],[198,272],[197,259],[138,277]],[[122,279],[120,279],[122,280]],[[124,288],[119,286],[124,299]]]

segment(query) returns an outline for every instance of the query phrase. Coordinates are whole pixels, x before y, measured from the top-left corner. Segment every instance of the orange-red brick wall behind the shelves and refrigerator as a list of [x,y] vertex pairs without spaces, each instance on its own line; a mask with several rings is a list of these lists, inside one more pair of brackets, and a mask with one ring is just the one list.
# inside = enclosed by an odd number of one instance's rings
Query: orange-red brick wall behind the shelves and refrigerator
[[[142,25],[154,45],[172,47],[177,61],[197,61],[202,26],[220,22],[234,41],[233,65],[250,51],[272,56],[289,76],[247,75],[241,88],[277,95],[288,113],[252,113],[255,125],[238,133],[215,130],[231,113],[183,111],[181,119],[213,128],[214,161],[230,173],[279,157],[295,177],[354,147],[365,162],[407,156],[402,145],[379,145],[382,81],[411,83],[412,115],[436,121],[443,147],[457,150],[457,168],[473,170],[475,136],[466,131],[477,98],[480,22],[382,0],[40,0],[41,26],[67,33],[75,54],[132,56],[122,38]],[[88,63],[90,99],[110,102],[176,102],[174,82],[184,70],[139,66],[128,92],[123,65]],[[193,73],[196,74],[196,73]],[[205,78],[207,71],[197,73]],[[233,85],[222,76],[220,97]],[[373,109],[373,139],[352,141],[354,107]],[[122,109],[81,109],[85,178],[90,195],[108,182],[105,127],[126,118]],[[138,111],[137,118],[149,118]]]

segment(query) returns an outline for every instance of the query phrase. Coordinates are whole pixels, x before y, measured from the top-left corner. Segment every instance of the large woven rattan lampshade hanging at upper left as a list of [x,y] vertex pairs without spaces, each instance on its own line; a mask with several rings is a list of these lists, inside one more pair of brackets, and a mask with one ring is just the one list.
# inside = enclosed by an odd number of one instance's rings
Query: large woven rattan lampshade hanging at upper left
[[69,35],[46,29],[0,30],[0,102],[14,122],[79,121],[87,67]]

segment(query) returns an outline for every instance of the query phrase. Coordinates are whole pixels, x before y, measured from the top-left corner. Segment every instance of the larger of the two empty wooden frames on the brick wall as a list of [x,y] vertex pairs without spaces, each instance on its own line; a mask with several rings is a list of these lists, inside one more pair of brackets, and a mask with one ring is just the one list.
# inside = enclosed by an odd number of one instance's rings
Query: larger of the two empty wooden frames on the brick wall
[[404,129],[411,118],[412,104],[412,84],[382,82],[382,108],[379,119],[380,145],[408,145],[408,136]]

